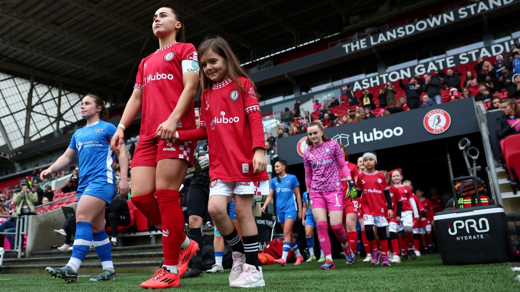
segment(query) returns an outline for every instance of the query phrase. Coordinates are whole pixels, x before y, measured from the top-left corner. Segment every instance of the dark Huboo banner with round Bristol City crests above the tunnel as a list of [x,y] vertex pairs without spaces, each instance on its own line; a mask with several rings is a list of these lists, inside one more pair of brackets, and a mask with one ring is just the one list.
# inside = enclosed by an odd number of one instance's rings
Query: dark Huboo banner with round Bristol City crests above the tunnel
[[[355,154],[478,132],[475,102],[463,99],[325,129],[327,137]],[[303,163],[307,135],[277,139],[278,156]]]

